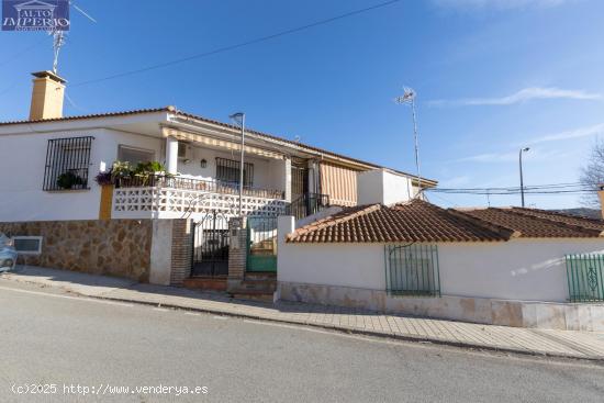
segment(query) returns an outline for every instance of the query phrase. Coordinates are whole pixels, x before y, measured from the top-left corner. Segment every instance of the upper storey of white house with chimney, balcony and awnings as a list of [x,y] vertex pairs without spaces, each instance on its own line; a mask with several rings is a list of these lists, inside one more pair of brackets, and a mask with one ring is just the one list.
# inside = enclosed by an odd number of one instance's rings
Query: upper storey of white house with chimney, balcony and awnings
[[[94,178],[116,160],[157,160],[169,178],[123,181],[109,217],[237,214],[238,127],[174,107],[63,116],[65,80],[51,71],[34,77],[30,119],[0,123],[0,222],[99,219],[101,187]],[[250,130],[245,163],[245,215],[275,216],[290,205],[303,217],[320,203],[356,205],[356,176],[381,169]],[[407,197],[415,194],[416,179],[396,175]],[[423,187],[435,184],[422,180]]]

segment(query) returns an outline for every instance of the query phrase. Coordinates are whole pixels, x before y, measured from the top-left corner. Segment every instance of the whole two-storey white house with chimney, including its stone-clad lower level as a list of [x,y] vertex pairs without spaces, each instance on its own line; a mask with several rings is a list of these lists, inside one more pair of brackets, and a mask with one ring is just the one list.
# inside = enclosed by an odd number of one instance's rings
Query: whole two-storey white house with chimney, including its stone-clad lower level
[[[64,116],[66,81],[51,71],[33,76],[29,119],[0,122],[0,227],[38,239],[38,256],[22,257],[30,264],[164,284],[220,277],[224,289],[226,277],[235,276],[227,228],[239,205],[250,217],[251,245],[241,245],[249,258],[246,270],[273,278],[278,215],[291,214],[303,225],[327,206],[356,205],[357,176],[376,169],[396,177],[406,199],[420,186],[436,186],[245,128],[239,200],[241,127],[175,107]],[[149,161],[158,164],[131,172]],[[124,163],[131,166],[126,173]],[[141,254],[128,257],[124,243]]]

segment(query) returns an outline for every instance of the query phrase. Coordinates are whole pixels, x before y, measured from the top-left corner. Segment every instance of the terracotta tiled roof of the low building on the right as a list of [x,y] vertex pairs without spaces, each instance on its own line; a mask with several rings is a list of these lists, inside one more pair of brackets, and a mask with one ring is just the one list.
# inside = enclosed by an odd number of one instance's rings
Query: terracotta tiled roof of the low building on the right
[[303,226],[289,243],[503,242],[523,238],[595,238],[604,221],[533,209],[441,209],[425,201],[360,205]]

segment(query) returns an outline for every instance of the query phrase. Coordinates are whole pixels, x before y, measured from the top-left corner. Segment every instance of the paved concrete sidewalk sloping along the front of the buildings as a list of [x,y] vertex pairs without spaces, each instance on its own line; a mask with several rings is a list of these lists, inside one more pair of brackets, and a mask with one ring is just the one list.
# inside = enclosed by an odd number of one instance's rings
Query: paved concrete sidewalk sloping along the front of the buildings
[[604,362],[604,334],[480,325],[292,302],[234,300],[224,294],[65,270],[21,267],[0,279],[61,288],[82,296],[310,325],[372,336]]

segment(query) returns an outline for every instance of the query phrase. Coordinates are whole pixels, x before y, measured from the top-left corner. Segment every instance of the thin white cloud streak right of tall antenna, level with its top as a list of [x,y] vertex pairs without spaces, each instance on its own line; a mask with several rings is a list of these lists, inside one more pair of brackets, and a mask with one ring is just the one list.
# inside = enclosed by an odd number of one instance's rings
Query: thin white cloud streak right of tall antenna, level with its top
[[602,94],[581,90],[563,90],[556,87],[529,87],[511,96],[500,98],[463,98],[458,100],[429,101],[430,105],[512,105],[535,99],[573,99],[573,100],[600,100]]

